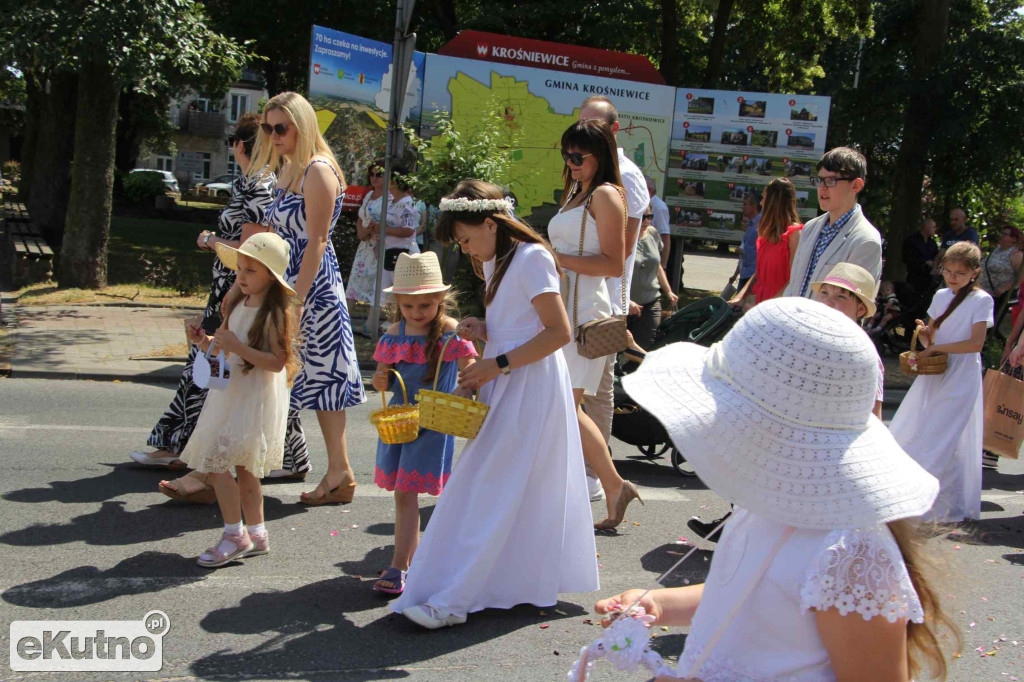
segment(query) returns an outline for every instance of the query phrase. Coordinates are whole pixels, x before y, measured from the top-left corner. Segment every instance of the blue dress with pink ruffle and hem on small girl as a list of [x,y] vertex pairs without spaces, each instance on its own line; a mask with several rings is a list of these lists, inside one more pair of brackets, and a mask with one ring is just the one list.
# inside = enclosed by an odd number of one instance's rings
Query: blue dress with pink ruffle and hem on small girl
[[[441,363],[441,374],[437,379],[437,390],[451,393],[455,390],[459,378],[460,357],[475,357],[476,349],[469,341],[449,332],[440,338],[444,343],[449,337],[455,336],[444,350],[444,361]],[[406,382],[410,403],[417,402],[416,396],[421,388],[433,389],[431,377],[427,382],[427,337],[418,334],[406,334],[406,322],[399,324],[397,334],[385,334],[377,342],[374,359],[394,368]],[[404,404],[401,398],[401,386],[393,375],[390,390],[395,391],[388,404]],[[374,482],[385,491],[407,491],[409,493],[426,493],[440,495],[449,476],[452,475],[452,460],[455,458],[455,436],[420,429],[420,435],[413,442],[388,445],[377,441],[377,466],[374,467]]]

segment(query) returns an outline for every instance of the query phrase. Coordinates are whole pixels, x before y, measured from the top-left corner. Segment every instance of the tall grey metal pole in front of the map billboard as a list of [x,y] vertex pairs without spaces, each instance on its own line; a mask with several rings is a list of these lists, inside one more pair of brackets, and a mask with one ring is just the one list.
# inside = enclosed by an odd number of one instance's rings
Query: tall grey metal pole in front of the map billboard
[[384,251],[387,239],[388,193],[391,189],[391,167],[401,153],[401,113],[406,103],[409,84],[409,66],[413,59],[416,34],[409,34],[416,0],[398,0],[394,20],[394,44],[391,48],[391,98],[387,117],[387,141],[384,154],[384,193],[381,198],[381,221],[377,240],[377,286],[374,289],[374,307],[370,312],[370,334],[376,343],[380,336],[380,313],[384,284]]

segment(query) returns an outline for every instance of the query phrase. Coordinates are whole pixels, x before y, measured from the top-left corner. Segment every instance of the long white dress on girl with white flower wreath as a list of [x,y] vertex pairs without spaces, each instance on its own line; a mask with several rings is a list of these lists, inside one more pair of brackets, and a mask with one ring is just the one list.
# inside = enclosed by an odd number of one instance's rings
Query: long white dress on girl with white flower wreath
[[[484,274],[494,261],[484,263]],[[487,306],[495,357],[543,329],[531,301],[558,291],[554,259],[522,244]],[[391,609],[428,603],[463,615],[599,588],[594,521],[568,372],[554,352],[480,390],[490,406],[455,464]]]

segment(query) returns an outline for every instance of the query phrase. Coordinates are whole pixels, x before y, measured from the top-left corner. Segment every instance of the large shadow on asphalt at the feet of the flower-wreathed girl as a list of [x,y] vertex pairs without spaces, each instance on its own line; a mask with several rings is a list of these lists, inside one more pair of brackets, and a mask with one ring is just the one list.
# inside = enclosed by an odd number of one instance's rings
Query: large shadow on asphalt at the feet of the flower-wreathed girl
[[245,671],[248,679],[403,678],[411,671],[402,667],[522,628],[585,613],[579,606],[564,602],[544,609],[545,615],[540,615],[536,606],[521,605],[473,613],[468,626],[432,632],[395,613],[362,627],[345,617],[347,613],[380,608],[384,603],[385,598],[373,592],[368,582],[352,577],[321,581],[289,592],[249,595],[238,606],[209,613],[200,627],[210,633],[268,634],[265,643],[248,651],[204,656],[191,665],[191,671],[197,677],[212,680],[233,680],[239,671]]

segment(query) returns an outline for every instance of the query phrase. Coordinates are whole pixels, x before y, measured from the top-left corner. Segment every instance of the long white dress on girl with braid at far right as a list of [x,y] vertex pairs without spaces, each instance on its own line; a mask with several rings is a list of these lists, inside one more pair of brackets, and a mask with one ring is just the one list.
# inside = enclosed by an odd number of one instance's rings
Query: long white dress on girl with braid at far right
[[[953,292],[935,292],[928,316],[936,319]],[[935,343],[971,338],[971,328],[992,326],[992,297],[976,289],[935,333]],[[958,522],[981,516],[981,443],[984,435],[981,354],[949,355],[944,374],[913,380],[889,425],[907,455],[939,479],[939,497],[925,520]]]

